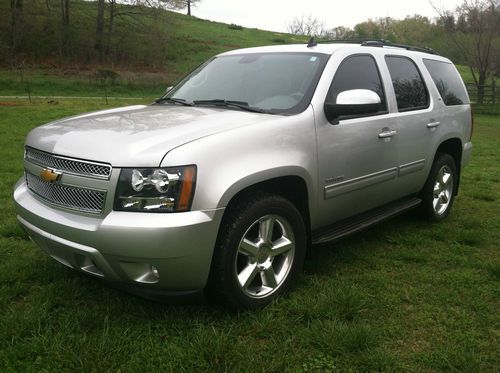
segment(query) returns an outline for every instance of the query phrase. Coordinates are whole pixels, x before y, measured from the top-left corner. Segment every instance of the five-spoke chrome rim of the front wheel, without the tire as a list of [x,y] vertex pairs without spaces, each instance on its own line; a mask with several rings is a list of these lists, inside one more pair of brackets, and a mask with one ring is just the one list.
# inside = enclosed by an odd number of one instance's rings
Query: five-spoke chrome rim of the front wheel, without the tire
[[247,296],[262,298],[286,280],[295,254],[291,225],[281,216],[266,215],[246,230],[238,245],[235,275]]

